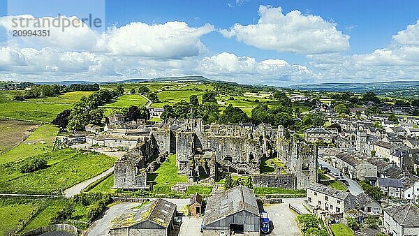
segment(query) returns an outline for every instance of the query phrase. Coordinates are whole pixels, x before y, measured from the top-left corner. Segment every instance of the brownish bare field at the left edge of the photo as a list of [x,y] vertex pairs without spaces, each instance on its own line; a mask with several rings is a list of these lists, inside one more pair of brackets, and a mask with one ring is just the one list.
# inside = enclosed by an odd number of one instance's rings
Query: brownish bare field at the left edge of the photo
[[33,122],[0,119],[0,153],[17,145],[33,128],[36,128]]

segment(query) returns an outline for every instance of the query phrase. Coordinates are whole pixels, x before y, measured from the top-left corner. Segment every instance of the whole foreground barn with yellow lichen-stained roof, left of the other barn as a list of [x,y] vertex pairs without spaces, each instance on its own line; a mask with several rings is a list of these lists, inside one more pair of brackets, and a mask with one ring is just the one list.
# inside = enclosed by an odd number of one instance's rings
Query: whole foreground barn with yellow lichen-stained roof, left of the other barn
[[168,236],[173,229],[176,205],[161,198],[131,209],[114,220],[111,236],[153,235]]

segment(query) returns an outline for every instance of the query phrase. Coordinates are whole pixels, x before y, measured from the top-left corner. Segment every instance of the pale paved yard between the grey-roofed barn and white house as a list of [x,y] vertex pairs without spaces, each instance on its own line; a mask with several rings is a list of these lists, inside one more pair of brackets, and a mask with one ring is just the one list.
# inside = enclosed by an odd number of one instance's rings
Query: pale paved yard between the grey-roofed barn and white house
[[268,235],[301,235],[295,218],[297,213],[289,209],[288,205],[302,204],[305,198],[285,198],[284,203],[265,205],[263,208],[267,212],[270,221],[272,221],[272,232]]

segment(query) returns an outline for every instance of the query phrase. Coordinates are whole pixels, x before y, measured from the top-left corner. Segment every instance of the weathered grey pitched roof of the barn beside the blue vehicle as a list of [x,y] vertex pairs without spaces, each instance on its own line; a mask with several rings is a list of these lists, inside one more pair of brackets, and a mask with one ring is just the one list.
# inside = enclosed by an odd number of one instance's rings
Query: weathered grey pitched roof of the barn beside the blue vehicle
[[259,216],[253,191],[242,185],[235,186],[208,198],[203,224],[206,226],[243,210]]

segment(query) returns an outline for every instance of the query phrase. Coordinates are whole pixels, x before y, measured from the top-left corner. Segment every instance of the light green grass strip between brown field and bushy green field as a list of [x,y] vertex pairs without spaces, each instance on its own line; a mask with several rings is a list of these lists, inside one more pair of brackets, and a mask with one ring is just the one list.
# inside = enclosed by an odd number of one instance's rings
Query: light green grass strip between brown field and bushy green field
[[50,152],[57,135],[58,128],[52,124],[44,124],[31,133],[20,145],[0,155],[0,164],[17,161],[30,156]]

